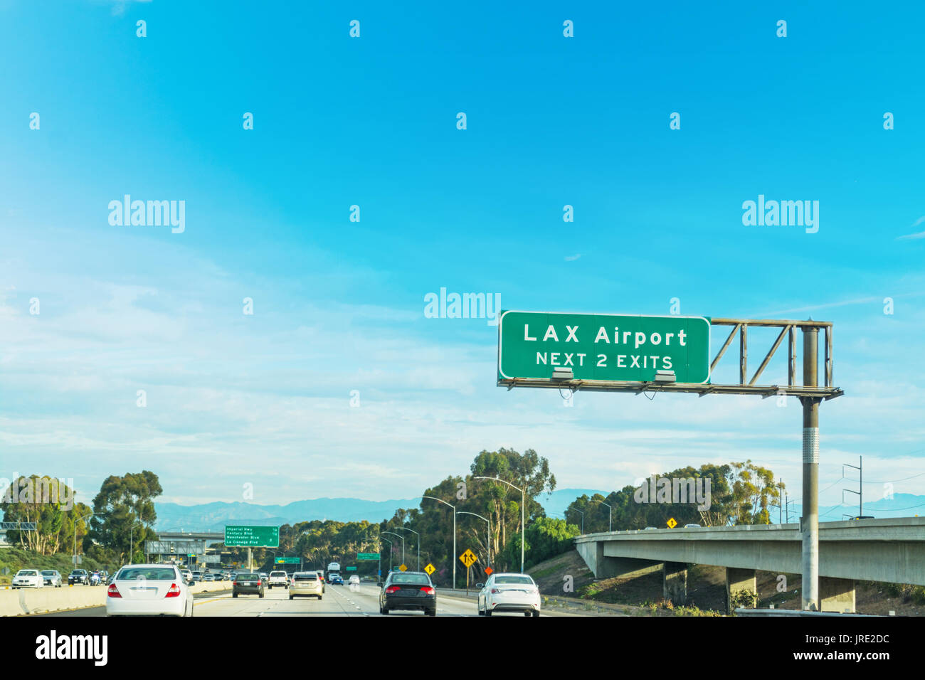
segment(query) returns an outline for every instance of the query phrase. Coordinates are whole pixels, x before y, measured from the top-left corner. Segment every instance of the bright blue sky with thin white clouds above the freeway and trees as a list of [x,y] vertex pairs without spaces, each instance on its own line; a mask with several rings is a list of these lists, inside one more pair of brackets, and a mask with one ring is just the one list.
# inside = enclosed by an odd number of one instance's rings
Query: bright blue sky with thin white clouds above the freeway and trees
[[[859,454],[925,471],[923,10],[292,5],[0,0],[0,476],[386,500],[508,446],[561,487],[750,458],[796,494],[793,400],[508,392],[496,328],[425,318],[441,287],[833,321],[820,488]],[[185,201],[183,233],[111,226],[127,193]],[[818,233],[744,226],[759,194],[819,201]]]

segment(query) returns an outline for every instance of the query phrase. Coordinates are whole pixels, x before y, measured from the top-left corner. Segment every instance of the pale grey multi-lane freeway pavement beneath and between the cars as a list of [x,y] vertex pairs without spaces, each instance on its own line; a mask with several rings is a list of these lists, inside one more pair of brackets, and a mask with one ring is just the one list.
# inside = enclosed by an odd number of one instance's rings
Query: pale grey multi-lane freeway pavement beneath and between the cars
[[[36,616],[105,616],[105,607],[89,607],[72,612],[50,612]],[[289,599],[289,590],[266,590],[263,599],[256,595],[232,598],[231,592],[203,593],[196,596],[194,616],[382,616],[379,613],[379,588],[375,585],[327,586],[322,600],[315,598]],[[475,598],[454,597],[437,591],[438,616],[477,616]],[[543,614],[544,616],[547,614]],[[555,612],[557,616],[577,615]],[[423,612],[389,612],[388,616],[425,616]],[[519,613],[497,613],[495,616],[516,616]]]

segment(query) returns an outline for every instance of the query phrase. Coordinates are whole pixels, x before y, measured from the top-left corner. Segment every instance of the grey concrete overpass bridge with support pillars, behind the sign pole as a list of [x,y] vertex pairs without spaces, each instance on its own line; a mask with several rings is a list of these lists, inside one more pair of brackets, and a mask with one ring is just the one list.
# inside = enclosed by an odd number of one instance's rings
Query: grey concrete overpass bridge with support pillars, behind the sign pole
[[[925,586],[925,517],[821,522],[820,609],[855,612],[855,581]],[[701,526],[614,531],[575,538],[597,578],[660,571],[664,597],[687,601],[687,565],[726,568],[726,602],[756,592],[755,572],[802,572],[799,525]]]

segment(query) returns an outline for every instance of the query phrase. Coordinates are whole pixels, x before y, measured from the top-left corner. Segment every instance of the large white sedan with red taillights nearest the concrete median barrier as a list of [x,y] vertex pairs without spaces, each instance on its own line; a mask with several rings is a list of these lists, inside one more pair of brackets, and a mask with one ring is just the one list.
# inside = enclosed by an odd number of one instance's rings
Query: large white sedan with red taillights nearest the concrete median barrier
[[192,616],[192,593],[173,564],[129,564],[106,589],[109,616]]

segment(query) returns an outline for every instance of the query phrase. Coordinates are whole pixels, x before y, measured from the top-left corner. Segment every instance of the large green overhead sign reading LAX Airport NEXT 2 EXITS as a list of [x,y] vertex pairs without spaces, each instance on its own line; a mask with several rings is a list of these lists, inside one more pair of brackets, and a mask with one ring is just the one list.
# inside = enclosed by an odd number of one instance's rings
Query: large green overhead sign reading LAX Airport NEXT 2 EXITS
[[709,380],[706,316],[501,312],[498,379],[552,377],[650,382],[673,371],[679,383]]

